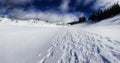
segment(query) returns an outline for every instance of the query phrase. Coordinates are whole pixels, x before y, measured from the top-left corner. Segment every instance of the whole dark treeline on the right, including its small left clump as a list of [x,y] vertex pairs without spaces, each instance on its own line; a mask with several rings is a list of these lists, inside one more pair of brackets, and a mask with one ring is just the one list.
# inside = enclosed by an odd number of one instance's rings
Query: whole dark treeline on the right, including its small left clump
[[107,19],[118,14],[120,14],[120,5],[118,3],[115,3],[109,8],[106,8],[105,10],[99,10],[98,12],[93,12],[88,19],[86,19],[86,17],[83,16],[80,17],[78,21],[74,21],[68,24],[74,25],[74,24],[86,22],[86,20],[89,20],[91,22],[99,22],[103,19]]

